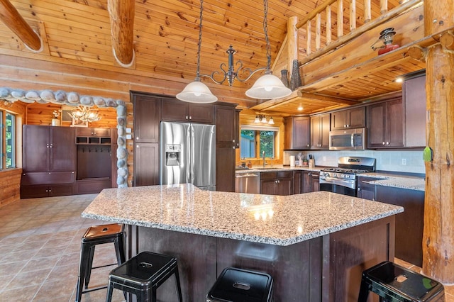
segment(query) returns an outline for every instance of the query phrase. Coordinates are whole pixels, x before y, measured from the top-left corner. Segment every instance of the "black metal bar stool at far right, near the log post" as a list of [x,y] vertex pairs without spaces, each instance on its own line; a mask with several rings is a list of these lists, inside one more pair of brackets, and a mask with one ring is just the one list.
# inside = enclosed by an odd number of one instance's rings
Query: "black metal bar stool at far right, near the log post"
[[377,293],[380,301],[445,301],[441,283],[389,261],[362,272],[358,302],[366,302],[369,291]]

